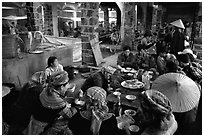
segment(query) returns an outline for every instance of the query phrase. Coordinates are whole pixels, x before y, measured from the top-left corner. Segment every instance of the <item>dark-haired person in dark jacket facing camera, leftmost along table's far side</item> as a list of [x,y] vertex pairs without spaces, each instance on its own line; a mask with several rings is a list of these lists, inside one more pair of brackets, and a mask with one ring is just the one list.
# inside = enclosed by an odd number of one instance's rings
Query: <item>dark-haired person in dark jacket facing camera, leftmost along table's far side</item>
[[117,65],[121,68],[134,68],[134,55],[131,53],[131,48],[129,46],[123,47],[123,52],[118,55]]

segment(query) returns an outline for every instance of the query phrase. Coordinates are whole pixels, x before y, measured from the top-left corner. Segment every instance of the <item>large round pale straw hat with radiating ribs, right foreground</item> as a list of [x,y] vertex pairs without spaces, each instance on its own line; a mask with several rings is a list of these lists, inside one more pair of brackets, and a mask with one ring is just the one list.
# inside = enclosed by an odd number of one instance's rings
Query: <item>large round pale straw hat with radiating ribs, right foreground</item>
[[167,96],[172,104],[173,112],[187,112],[198,105],[200,89],[189,77],[179,73],[166,73],[159,76],[152,89]]

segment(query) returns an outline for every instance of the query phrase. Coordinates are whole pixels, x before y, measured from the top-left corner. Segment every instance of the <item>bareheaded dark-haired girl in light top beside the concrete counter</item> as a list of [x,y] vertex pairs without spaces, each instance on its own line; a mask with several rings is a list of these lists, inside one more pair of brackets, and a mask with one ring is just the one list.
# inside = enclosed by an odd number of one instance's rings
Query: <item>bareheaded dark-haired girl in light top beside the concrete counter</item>
[[47,60],[47,67],[45,70],[45,79],[48,80],[50,75],[55,74],[59,71],[64,71],[63,66],[59,64],[57,57],[50,56]]

